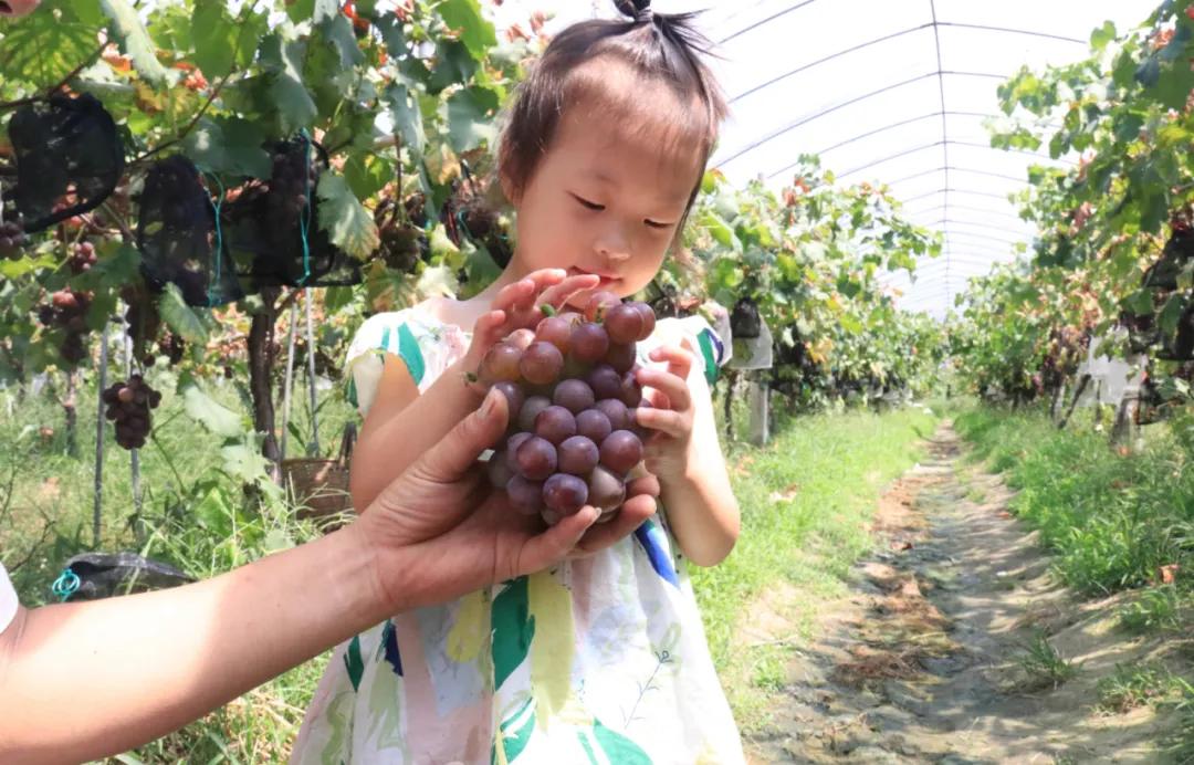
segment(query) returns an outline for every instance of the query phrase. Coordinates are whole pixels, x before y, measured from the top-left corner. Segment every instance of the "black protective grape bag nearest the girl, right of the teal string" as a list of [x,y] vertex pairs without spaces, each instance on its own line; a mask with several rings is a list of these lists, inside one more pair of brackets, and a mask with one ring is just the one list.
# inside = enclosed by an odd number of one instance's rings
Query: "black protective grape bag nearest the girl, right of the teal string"
[[320,229],[316,189],[327,152],[306,135],[270,147],[267,183],[251,183],[221,220],[240,276],[263,286],[349,286],[361,264]]

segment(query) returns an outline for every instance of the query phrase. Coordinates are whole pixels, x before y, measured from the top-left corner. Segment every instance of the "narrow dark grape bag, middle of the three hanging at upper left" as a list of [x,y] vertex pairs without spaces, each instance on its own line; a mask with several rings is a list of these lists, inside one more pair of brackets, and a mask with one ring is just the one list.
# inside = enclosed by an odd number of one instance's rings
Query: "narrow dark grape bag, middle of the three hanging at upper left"
[[140,206],[137,249],[150,288],[177,284],[187,306],[208,308],[244,296],[211,197],[189,159],[176,154],[155,162]]

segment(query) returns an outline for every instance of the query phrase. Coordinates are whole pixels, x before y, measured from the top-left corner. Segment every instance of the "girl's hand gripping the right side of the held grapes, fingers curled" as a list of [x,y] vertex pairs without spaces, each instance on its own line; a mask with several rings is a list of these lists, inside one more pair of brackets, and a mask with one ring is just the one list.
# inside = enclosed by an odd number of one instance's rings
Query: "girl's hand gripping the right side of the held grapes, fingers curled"
[[636,409],[636,421],[653,431],[644,442],[647,470],[663,482],[684,476],[693,440],[695,409],[688,388],[694,356],[678,345],[653,350],[652,362],[666,362],[665,369],[641,368],[636,378],[650,407]]

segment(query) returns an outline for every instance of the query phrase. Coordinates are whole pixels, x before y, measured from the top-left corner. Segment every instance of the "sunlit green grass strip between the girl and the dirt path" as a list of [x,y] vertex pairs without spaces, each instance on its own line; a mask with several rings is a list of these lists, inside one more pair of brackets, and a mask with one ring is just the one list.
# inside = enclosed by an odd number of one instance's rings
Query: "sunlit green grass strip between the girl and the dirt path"
[[[799,597],[783,617],[808,630],[820,604],[842,596],[884,487],[922,456],[936,415],[910,408],[848,412],[784,422],[765,449],[737,446],[732,479],[743,511],[734,551],[714,568],[690,567],[714,664],[745,732],[765,724],[795,644],[744,637],[761,598],[784,585]],[[784,636],[788,637],[788,636]]]

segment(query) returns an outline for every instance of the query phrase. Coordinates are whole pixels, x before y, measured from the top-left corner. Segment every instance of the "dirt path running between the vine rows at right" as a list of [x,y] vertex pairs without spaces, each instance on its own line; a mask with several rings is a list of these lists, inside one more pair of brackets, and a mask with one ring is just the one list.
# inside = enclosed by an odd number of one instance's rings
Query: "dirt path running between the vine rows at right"
[[[1156,746],[1174,721],[1095,709],[1100,678],[1165,646],[1119,631],[1115,598],[1055,584],[1004,510],[1008,489],[958,463],[948,425],[930,449],[880,502],[879,551],[855,567],[851,597],[826,604],[751,760],[1167,761]],[[1077,666],[1055,687],[1024,666],[1045,643]]]

